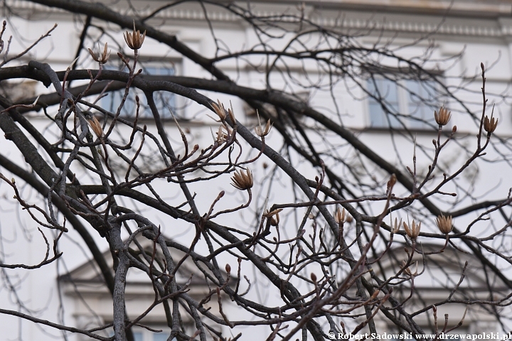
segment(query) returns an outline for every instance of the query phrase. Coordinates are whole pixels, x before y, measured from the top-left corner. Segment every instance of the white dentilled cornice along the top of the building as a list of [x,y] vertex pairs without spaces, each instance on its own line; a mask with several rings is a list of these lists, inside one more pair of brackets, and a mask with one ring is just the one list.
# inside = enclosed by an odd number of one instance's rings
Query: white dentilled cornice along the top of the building
[[[264,0],[265,1],[265,0]],[[375,30],[375,31],[392,31],[392,32],[400,32],[400,33],[433,33],[441,34],[441,35],[455,35],[455,36],[481,36],[481,37],[512,37],[512,22],[508,20],[508,16],[506,16],[506,11],[504,8],[504,3],[500,2],[500,4],[488,4],[486,5],[486,9],[491,11],[494,9],[493,13],[501,14],[501,17],[491,18],[479,20],[477,23],[474,19],[471,18],[451,18],[448,17],[442,22],[442,16],[420,16],[416,13],[415,16],[412,15],[400,15],[400,13],[394,13],[393,15],[389,14],[386,16],[383,13],[377,17],[373,16],[373,12],[369,11],[342,11],[341,8],[338,8],[338,12],[335,9],[330,9],[325,12],[322,10],[323,6],[319,6],[320,4],[338,4],[338,5],[347,5],[347,4],[355,4],[352,0],[339,0],[339,1],[328,1],[328,2],[317,2],[317,1],[308,1],[308,4],[311,5],[316,2],[316,6],[306,6],[306,18],[309,18],[312,22],[316,23],[319,26],[329,27],[329,28],[344,28],[344,29],[357,29],[357,30]],[[357,1],[356,1],[357,2]],[[363,0],[363,2],[367,5],[371,5],[375,2],[375,0]],[[385,1],[387,4],[400,4],[400,6],[405,6],[405,4],[409,5],[409,9],[414,8],[414,6],[419,6],[415,4],[414,1],[405,1],[405,0],[389,0]],[[420,1],[425,7],[426,2],[432,2],[433,4],[438,4],[439,6],[444,6],[443,1]],[[476,1],[479,6],[484,6],[484,4],[480,4],[479,1]],[[279,16],[282,14],[282,11],[279,11],[279,8],[282,9],[294,9],[291,12],[297,12],[296,7],[290,7],[292,1],[281,0],[279,3],[276,1],[273,2],[274,6],[269,10],[261,10],[265,6],[255,6],[255,14],[257,16]],[[381,2],[382,3],[382,2]],[[468,1],[456,1],[454,4],[454,8],[457,6],[464,4],[469,4]],[[61,9],[48,8],[46,6],[42,6],[39,4],[34,4],[30,1],[23,0],[7,0],[7,6],[10,6],[14,11],[25,11],[26,13],[33,12],[34,15],[41,13],[65,13],[65,11]],[[156,4],[156,3],[152,3]],[[275,4],[278,4],[277,6]],[[281,6],[279,6],[279,4]],[[361,1],[358,2],[361,4]],[[264,5],[264,4],[260,4]],[[494,6],[494,7],[493,7]],[[512,5],[511,5],[512,6]],[[478,7],[478,6],[476,6]],[[151,11],[156,8],[151,9],[142,9],[139,11],[139,16],[147,16]],[[372,9],[373,7],[368,7]],[[508,9],[508,7],[507,7]],[[475,9],[473,9],[475,10]],[[298,13],[298,12],[297,12]],[[339,13],[339,16],[333,16],[333,13]],[[330,16],[329,16],[330,14]],[[352,15],[353,14],[353,15]],[[193,9],[193,8],[169,8],[164,9],[155,18],[161,20],[180,20],[180,21],[204,21],[205,14],[201,9]],[[223,22],[223,23],[241,23],[242,21],[235,14],[227,12],[227,11],[218,11],[218,9],[208,11],[208,18],[211,21]],[[452,20],[453,19],[453,20]],[[283,18],[282,21],[291,22],[292,18]],[[194,23],[191,23],[191,26]]]

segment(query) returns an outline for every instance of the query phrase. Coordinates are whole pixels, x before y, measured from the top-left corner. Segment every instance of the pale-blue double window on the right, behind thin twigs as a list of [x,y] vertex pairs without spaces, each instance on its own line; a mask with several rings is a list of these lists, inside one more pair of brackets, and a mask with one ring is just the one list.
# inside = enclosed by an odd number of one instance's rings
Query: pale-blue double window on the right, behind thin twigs
[[[431,129],[439,109],[436,83],[370,78],[367,81],[369,125],[373,128]],[[382,103],[378,99],[382,99]],[[385,112],[385,104],[389,112]]]

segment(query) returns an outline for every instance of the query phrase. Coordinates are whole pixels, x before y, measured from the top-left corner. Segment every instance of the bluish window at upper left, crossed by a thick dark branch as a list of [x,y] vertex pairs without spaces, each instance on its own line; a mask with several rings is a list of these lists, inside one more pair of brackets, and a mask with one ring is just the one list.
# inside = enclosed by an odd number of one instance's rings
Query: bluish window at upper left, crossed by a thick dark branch
[[[137,69],[138,68],[139,67],[137,67]],[[174,64],[171,63],[146,63],[144,64],[144,66],[142,66],[142,75],[172,76],[175,75],[175,73],[176,67]],[[124,107],[121,109],[122,117],[135,117],[137,108],[135,104],[136,95],[139,95],[139,98],[141,99],[139,119],[151,119],[153,117],[153,114],[151,113],[151,109],[149,109],[149,106],[147,105],[147,100],[145,99],[144,93],[133,87],[130,88],[127,100],[126,102],[124,102]],[[117,112],[117,108],[119,107],[119,104],[121,104],[123,96],[124,89],[115,92],[110,92],[110,94],[107,97],[104,97],[102,99],[102,107],[110,112]],[[159,111],[160,117],[162,117],[163,119],[171,119],[172,114],[176,115],[176,94],[164,91],[154,92],[154,101],[156,104],[156,108]]]

